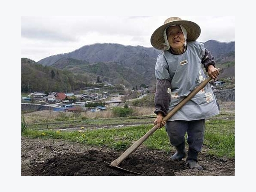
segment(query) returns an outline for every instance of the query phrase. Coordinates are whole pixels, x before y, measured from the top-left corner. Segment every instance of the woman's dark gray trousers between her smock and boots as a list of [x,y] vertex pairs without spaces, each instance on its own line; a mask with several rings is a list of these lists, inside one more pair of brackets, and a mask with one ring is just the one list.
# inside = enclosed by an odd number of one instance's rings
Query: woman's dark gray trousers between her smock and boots
[[177,147],[185,142],[187,132],[187,142],[189,150],[198,153],[202,150],[204,142],[205,119],[194,121],[167,121],[166,132],[170,143]]

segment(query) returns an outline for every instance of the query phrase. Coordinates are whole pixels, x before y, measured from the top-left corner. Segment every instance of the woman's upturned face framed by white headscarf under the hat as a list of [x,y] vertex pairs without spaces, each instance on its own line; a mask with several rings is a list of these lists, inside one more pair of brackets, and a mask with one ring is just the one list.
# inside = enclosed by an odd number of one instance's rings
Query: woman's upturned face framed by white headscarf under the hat
[[168,42],[173,49],[183,49],[185,38],[180,26],[170,26],[166,29]]

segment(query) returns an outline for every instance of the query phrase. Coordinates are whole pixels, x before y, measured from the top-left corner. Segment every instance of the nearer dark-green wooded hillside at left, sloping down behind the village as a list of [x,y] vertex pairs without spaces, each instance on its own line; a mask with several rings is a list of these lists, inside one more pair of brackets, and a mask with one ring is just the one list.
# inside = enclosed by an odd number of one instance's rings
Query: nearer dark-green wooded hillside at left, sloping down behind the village
[[[94,66],[95,67],[95,66]],[[94,68],[96,71],[105,69]],[[105,81],[97,76],[97,83],[90,76],[74,74],[70,70],[56,69],[43,66],[29,58],[21,58],[21,91],[22,92],[79,92],[87,88],[98,88],[105,85]],[[124,87],[116,84],[109,91],[123,91]]]

